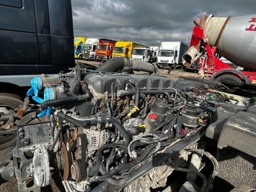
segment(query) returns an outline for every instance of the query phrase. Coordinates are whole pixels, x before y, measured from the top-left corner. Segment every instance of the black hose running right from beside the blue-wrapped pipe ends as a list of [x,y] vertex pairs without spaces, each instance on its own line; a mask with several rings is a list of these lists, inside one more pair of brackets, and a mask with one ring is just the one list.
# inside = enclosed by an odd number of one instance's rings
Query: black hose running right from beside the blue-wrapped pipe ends
[[84,95],[79,95],[79,96],[74,96],[74,97],[61,97],[58,99],[45,100],[40,105],[40,110],[43,111],[45,108],[47,108],[49,106],[61,105],[61,104],[65,104],[68,102],[82,101],[82,100],[86,100],[89,98],[90,98],[90,95],[84,94]]

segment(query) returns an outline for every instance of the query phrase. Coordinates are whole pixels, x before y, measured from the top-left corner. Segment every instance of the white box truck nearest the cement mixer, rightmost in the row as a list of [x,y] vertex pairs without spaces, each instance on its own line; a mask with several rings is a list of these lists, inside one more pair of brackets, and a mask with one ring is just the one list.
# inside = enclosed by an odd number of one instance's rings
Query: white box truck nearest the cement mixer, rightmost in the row
[[[188,45],[183,42],[162,42],[157,55],[157,63],[163,67],[175,69],[182,67],[182,56],[188,51]],[[171,70],[168,70],[170,74]]]

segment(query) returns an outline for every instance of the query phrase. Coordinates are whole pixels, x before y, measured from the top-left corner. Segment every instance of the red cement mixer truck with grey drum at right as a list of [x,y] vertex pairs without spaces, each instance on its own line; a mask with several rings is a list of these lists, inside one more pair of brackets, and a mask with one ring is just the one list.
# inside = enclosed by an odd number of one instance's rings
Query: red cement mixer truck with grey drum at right
[[[189,49],[182,56],[183,65],[199,65],[199,77],[211,77],[239,92],[255,90],[252,84],[256,83],[256,15],[204,15],[193,22],[196,26]],[[221,56],[243,70],[221,61]]]

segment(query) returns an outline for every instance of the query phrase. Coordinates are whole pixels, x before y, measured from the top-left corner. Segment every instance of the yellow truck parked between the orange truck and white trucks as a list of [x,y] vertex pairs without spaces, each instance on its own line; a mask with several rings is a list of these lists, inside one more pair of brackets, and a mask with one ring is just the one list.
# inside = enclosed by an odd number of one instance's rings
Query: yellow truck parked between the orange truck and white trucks
[[135,44],[134,42],[116,42],[112,52],[112,57],[132,57],[132,49],[134,47],[145,47],[144,45]]

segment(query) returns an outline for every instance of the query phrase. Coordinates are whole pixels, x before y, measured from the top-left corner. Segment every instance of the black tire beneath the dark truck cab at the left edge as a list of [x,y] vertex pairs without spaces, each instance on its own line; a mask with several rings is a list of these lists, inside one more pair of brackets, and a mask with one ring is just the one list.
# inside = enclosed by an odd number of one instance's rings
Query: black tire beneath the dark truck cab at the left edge
[[[16,108],[19,108],[20,104],[24,104],[24,101],[15,94],[11,93],[0,93],[0,113],[1,114],[8,114],[8,113],[15,113]],[[10,129],[7,122],[0,122],[0,150],[4,148],[8,148],[15,144],[17,132],[12,131]],[[4,134],[6,132],[6,134]]]

